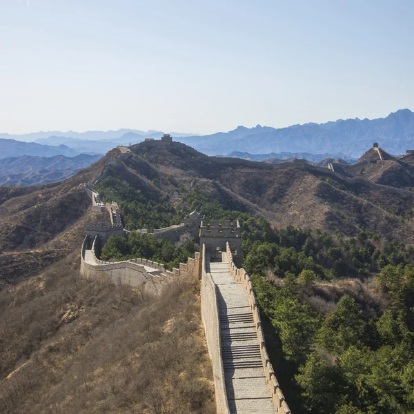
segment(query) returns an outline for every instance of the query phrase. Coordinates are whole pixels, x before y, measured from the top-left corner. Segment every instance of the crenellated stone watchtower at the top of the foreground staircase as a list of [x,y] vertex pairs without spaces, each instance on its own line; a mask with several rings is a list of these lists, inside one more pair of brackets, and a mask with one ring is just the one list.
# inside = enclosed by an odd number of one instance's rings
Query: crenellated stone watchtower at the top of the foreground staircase
[[210,257],[221,258],[221,252],[226,251],[226,244],[230,248],[235,259],[242,259],[242,229],[239,221],[223,220],[201,221],[200,226],[200,246],[206,245],[206,250]]

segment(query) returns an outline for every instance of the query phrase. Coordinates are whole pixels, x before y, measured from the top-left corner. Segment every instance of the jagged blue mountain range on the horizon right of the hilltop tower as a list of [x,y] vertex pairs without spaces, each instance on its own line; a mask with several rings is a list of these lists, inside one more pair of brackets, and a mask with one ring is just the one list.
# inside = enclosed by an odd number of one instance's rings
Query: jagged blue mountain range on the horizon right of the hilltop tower
[[326,124],[293,125],[271,128],[239,126],[230,132],[179,138],[207,155],[225,155],[230,151],[264,154],[268,152],[311,152],[359,157],[365,148],[378,141],[384,150],[402,154],[414,149],[414,113],[397,110],[386,118],[339,119]]

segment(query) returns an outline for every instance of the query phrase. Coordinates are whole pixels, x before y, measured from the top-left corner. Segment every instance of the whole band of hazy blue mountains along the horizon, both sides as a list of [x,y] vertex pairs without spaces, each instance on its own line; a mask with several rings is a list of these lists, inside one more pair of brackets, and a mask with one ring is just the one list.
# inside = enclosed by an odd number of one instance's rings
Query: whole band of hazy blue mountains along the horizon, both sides
[[[130,146],[145,138],[159,139],[157,130],[88,131],[88,132],[34,132],[26,135],[0,134],[0,158],[19,155],[74,157],[80,153],[101,154],[118,145]],[[230,132],[213,135],[190,135],[171,132],[175,141],[192,146],[206,155],[241,157],[260,161],[292,157],[322,161],[324,158],[342,158],[348,162],[362,155],[373,142],[394,155],[414,149],[414,113],[397,110],[386,118],[338,119],[325,124],[293,125],[272,128],[257,125],[254,128],[238,126]],[[10,139],[10,138],[13,139]],[[3,139],[1,139],[3,138]],[[6,139],[7,138],[7,139]],[[21,140],[30,141],[23,142]],[[247,153],[247,155],[246,155]]]

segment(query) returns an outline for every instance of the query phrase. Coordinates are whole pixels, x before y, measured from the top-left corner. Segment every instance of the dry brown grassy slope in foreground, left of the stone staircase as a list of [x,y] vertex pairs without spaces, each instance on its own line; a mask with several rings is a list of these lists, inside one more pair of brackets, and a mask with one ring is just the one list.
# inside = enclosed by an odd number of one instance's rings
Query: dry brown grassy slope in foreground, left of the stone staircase
[[150,297],[77,258],[0,292],[0,412],[214,413],[198,280]]

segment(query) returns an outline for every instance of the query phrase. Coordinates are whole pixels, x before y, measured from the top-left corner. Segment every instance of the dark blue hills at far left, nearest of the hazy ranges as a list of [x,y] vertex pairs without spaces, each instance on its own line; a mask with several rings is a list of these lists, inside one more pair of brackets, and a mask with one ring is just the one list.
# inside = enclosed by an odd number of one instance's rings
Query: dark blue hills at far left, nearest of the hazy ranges
[[0,159],[0,186],[34,186],[61,181],[101,159],[101,155],[76,157],[8,157]]

